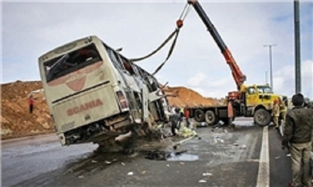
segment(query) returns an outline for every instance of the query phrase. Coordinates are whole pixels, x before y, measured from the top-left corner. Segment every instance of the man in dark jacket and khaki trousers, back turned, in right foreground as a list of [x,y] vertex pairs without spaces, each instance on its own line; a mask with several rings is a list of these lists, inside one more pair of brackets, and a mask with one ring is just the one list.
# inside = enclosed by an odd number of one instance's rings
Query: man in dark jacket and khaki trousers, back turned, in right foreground
[[311,132],[313,110],[303,107],[304,97],[292,97],[293,109],[287,113],[282,148],[290,144],[292,182],[294,186],[311,186]]

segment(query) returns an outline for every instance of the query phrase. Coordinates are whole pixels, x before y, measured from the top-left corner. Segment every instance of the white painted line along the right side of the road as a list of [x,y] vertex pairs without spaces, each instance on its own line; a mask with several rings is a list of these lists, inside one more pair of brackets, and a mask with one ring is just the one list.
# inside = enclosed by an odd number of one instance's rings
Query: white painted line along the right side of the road
[[269,127],[263,128],[262,147],[258,164],[256,186],[270,186],[270,155],[269,155]]

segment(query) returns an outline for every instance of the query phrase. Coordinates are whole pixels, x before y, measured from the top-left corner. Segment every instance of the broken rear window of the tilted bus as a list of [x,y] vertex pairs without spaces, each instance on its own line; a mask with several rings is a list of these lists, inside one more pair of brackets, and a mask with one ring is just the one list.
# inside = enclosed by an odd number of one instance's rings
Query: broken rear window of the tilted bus
[[47,82],[102,60],[94,44],[43,63]]

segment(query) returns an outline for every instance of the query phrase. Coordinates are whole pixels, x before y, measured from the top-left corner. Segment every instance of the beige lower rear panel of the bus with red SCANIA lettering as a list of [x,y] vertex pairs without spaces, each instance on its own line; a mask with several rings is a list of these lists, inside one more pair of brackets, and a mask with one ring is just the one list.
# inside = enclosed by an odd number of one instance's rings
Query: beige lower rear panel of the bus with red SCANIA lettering
[[99,86],[53,107],[58,132],[95,122],[120,113],[111,85]]

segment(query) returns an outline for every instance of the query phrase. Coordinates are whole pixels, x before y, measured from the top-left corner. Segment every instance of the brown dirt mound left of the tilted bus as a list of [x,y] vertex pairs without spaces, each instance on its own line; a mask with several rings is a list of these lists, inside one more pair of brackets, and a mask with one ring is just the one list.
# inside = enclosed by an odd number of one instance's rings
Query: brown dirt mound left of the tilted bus
[[[40,81],[1,84],[1,91],[2,139],[54,132]],[[34,110],[30,114],[28,96],[32,91]]]

